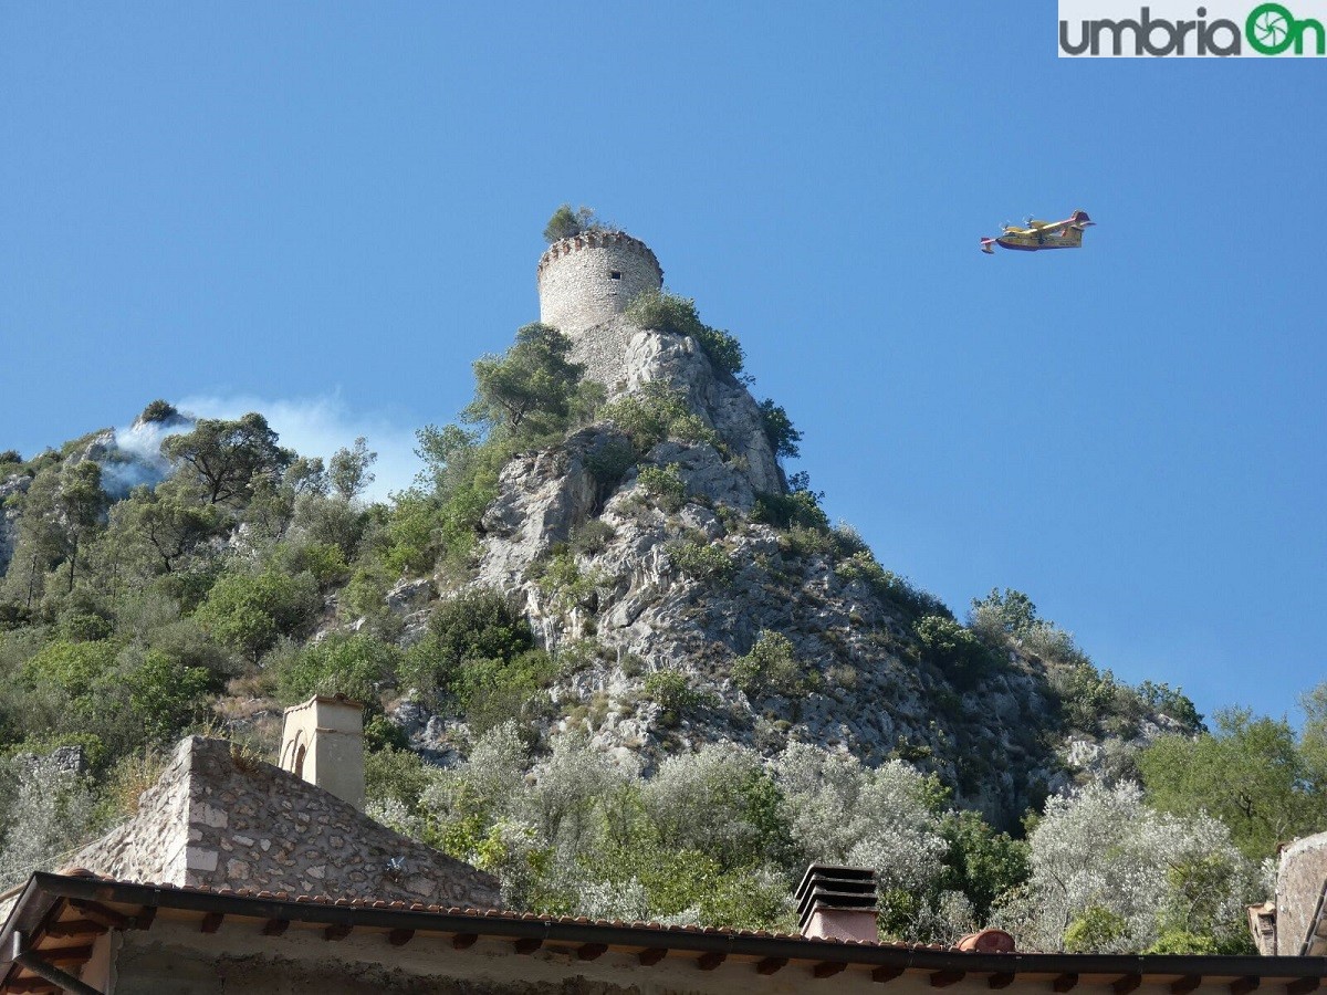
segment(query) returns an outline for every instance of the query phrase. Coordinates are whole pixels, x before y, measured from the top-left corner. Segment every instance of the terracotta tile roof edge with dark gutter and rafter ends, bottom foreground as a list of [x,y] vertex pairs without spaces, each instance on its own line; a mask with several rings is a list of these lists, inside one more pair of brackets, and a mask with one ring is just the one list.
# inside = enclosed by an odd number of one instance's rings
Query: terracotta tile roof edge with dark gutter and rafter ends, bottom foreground
[[[929,975],[932,987],[945,987],[965,976],[989,979],[990,987],[1003,988],[1016,980],[1044,991],[1048,982],[1072,979],[1079,974],[1101,983],[1115,984],[1117,992],[1133,991],[1143,978],[1154,983],[1184,982],[1184,991],[1193,991],[1204,979],[1222,988],[1251,991],[1263,980],[1279,982],[1283,995],[1308,995],[1327,978],[1327,958],[1322,957],[1214,957],[1166,954],[1027,954],[991,949],[991,938],[982,934],[965,938],[959,949],[920,943],[876,943],[863,941],[811,939],[802,935],[766,930],[718,929],[713,926],[670,926],[658,922],[589,919],[571,915],[536,915],[503,909],[426,905],[381,899],[336,898],[326,894],[296,894],[263,889],[206,889],[176,885],[153,885],[76,872],[33,874],[9,918],[0,927],[0,992],[15,988],[27,991],[24,967],[12,959],[15,937],[31,938],[36,955],[46,953],[73,958],[88,955],[90,946],[72,947],[68,934],[50,933],[50,923],[65,923],[86,930],[88,918],[104,929],[149,930],[161,921],[159,911],[171,918],[199,917],[204,934],[215,934],[222,921],[260,919],[268,926],[279,923],[281,935],[295,922],[304,927],[324,927],[324,938],[344,939],[352,930],[382,933],[391,938],[415,933],[453,934],[449,949],[468,949],[479,937],[512,943],[515,955],[529,954],[543,946],[598,954],[614,949],[634,954],[642,966],[683,958],[711,970],[725,962],[758,962],[758,968],[800,962],[812,966],[816,978],[836,976],[848,967],[869,971],[872,982],[889,982],[905,972]],[[65,914],[78,921],[62,919]],[[208,929],[208,923],[211,927]],[[460,943],[464,938],[468,942]],[[78,943],[80,941],[73,941]],[[218,941],[224,945],[224,939]],[[395,941],[393,941],[395,942]],[[967,947],[967,949],[962,949]],[[674,957],[675,955],[675,957]],[[731,955],[731,958],[730,958]],[[764,971],[760,970],[763,974]],[[1192,984],[1190,984],[1192,982]],[[1267,987],[1269,995],[1282,995]]]

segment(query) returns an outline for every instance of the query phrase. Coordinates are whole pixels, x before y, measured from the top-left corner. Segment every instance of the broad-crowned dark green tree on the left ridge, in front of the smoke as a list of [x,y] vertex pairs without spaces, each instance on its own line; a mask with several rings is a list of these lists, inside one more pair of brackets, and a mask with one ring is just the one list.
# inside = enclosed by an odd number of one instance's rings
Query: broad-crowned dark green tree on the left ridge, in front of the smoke
[[279,474],[295,459],[276,443],[267,419],[251,411],[238,421],[200,418],[194,431],[162,442],[162,454],[202,483],[208,504],[244,504],[261,475]]

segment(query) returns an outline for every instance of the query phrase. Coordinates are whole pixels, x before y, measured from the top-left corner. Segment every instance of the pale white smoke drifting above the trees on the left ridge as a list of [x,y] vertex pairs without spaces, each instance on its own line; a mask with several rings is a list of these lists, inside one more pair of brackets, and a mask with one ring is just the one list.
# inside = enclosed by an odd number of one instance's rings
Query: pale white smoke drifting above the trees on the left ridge
[[[191,397],[179,401],[176,407],[194,418],[239,418],[257,411],[267,418],[283,446],[301,456],[321,456],[324,463],[338,448],[349,448],[362,435],[369,451],[378,454],[370,468],[374,480],[364,494],[369,500],[386,500],[389,492],[410,487],[423,467],[414,454],[417,426],[395,425],[381,415],[354,414],[336,395],[287,401],[245,395]],[[188,431],[188,427],[187,423],[182,429],[165,427],[161,438]],[[155,442],[158,447],[161,438]],[[143,444],[150,442],[145,435]]]

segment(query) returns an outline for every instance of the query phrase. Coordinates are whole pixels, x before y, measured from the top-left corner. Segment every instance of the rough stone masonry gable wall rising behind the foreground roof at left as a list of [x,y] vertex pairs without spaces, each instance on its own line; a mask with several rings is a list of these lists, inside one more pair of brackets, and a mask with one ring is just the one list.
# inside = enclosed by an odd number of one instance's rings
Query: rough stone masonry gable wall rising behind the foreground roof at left
[[191,736],[138,815],[74,864],[119,880],[488,909],[496,881],[224,740]]

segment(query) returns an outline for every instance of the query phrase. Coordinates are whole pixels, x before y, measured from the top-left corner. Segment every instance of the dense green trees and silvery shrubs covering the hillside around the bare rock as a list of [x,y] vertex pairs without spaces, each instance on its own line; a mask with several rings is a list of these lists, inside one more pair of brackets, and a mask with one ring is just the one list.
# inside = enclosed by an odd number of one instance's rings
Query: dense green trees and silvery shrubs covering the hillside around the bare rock
[[[567,207],[547,233],[593,223]],[[742,375],[740,345],[691,301],[649,295],[632,314],[691,336],[721,374]],[[86,458],[89,439],[32,460],[0,454],[0,484],[25,483],[8,488],[19,532],[0,578],[4,882],[122,817],[186,731],[271,747],[276,706],[342,691],[366,703],[373,815],[492,870],[519,907],[787,927],[795,876],[819,860],[876,868],[892,935],[947,941],[998,922],[1044,949],[1247,945],[1241,910],[1262,897],[1259,862],[1278,841],[1327,828],[1327,685],[1307,698],[1298,734],[1243,711],[1208,731],[1178,689],[1099,670],[1016,590],[975,600],[961,621],[831,527],[804,475],[762,495],[751,521],[776,528],[788,556],[819,557],[896,606],[906,653],[957,691],[1011,658],[1035,662],[1059,710],[1051,731],[1104,744],[1097,768],[1003,833],[954,808],[934,772],[908,763],[924,755],[904,748],[872,769],[795,740],[770,756],[699,744],[648,775],[587,748],[606,703],[568,712],[548,689],[596,658],[593,638],[555,657],[502,592],[463,586],[499,471],[585,425],[610,426],[614,442],[591,459],[601,488],[634,471],[642,500],[675,511],[686,500],[677,467],[646,454],[666,439],[723,443],[664,386],[605,403],[581,373],[555,329],[522,328],[506,353],[475,364],[459,423],[419,432],[426,471],[385,504],[361,499],[376,459],[364,439],[324,466],[283,448],[256,413],[182,423],[162,446],[165,479],[118,499],[102,462]],[[795,456],[786,411],[766,401],[762,414],[771,447]],[[178,413],[153,402],[142,418]],[[610,532],[592,519],[540,564],[549,604],[592,604],[584,556]],[[714,585],[735,568],[685,535],[669,556]],[[386,602],[402,576],[447,590],[410,641]],[[762,631],[729,677],[790,703],[825,679],[778,631]],[[679,671],[648,675],[641,694],[665,726],[706,707]],[[405,748],[386,710],[406,695],[466,723],[464,762],[441,769]],[[1140,739],[1158,715],[1169,735]],[[68,763],[65,746],[82,762]]]

